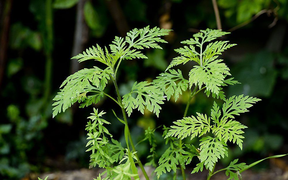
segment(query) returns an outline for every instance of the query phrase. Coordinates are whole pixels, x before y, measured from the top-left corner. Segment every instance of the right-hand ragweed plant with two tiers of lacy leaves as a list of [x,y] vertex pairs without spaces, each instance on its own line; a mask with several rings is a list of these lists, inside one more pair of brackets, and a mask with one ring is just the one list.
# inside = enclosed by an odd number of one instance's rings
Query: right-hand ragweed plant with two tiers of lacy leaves
[[[226,34],[228,33],[221,30],[206,29],[194,34],[194,38],[182,41],[181,43],[185,46],[175,50],[180,56],[174,58],[166,72],[161,73],[152,82],[161,88],[162,92],[166,94],[167,100],[174,96],[177,101],[182,91],[190,91],[183,118],[173,122],[175,125],[169,128],[164,126],[163,136],[166,144],[170,143],[170,146],[159,159],[159,166],[155,170],[158,178],[166,171],[173,170],[175,172],[174,179],[176,179],[177,166],[180,166],[182,177],[185,180],[185,165],[190,164],[194,156],[198,157],[200,162],[192,170],[192,173],[202,171],[205,167],[209,170],[207,180],[222,170],[226,170],[228,179],[238,180],[242,171],[262,161],[246,165],[245,163],[236,164],[238,162],[236,159],[227,168],[214,172],[218,160],[228,156],[228,141],[237,144],[242,149],[243,129],[247,126],[236,121],[236,115],[247,112],[253,103],[260,101],[258,98],[244,95],[226,98],[223,86],[238,82],[233,80],[233,77],[229,77],[230,70],[219,58],[219,55],[235,44],[230,44],[228,41],[213,41]],[[170,69],[190,61],[194,61],[196,65],[191,67],[189,79],[185,79],[179,69]],[[223,105],[220,108],[214,102],[210,115],[196,113],[196,116],[186,117],[192,97],[201,90],[204,90],[207,96],[212,94],[213,98],[223,100]],[[199,144],[183,145],[184,138],[192,140],[195,137],[201,137]],[[285,155],[269,158],[281,156]],[[197,159],[195,160],[197,161]]]

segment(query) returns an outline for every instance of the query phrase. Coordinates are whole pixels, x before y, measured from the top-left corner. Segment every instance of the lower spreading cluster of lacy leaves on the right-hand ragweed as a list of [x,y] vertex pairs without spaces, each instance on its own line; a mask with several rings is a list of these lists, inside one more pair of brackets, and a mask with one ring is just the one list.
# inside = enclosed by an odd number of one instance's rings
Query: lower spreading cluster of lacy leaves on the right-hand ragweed
[[213,109],[211,109],[211,116],[197,113],[197,116],[191,116],[177,120],[173,122],[175,126],[171,126],[171,129],[165,136],[177,137],[183,139],[190,137],[201,137],[211,132],[213,137],[207,135],[200,139],[200,163],[192,171],[198,172],[198,170],[206,169],[212,170],[214,164],[221,157],[228,156],[227,152],[227,141],[236,143],[242,149],[243,129],[247,128],[240,122],[233,120],[235,115],[239,113],[247,112],[248,108],[256,103],[260,99],[249,96],[232,96],[225,100],[222,111],[219,106],[214,102]]

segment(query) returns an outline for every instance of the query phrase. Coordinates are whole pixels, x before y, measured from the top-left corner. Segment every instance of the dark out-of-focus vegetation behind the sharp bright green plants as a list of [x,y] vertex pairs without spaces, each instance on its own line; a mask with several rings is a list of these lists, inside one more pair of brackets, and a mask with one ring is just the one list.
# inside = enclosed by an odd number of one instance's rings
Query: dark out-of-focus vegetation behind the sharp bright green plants
[[[218,0],[222,29],[229,35],[231,48],[223,59],[231,74],[242,84],[230,86],[227,96],[245,94],[263,101],[240,121],[249,127],[243,151],[235,147],[230,153],[249,162],[257,156],[284,154],[288,151],[285,112],[288,79],[287,20],[285,0]],[[120,94],[133,82],[154,79],[176,56],[180,41],[189,39],[198,29],[216,29],[210,0],[31,0],[0,2],[0,177],[19,179],[29,172],[87,167],[85,152],[86,115],[93,107],[71,109],[52,119],[52,98],[65,78],[94,62],[79,64],[70,58],[86,47],[107,45],[115,35],[124,36],[137,27],[160,26],[173,29],[164,50],[147,50],[148,59],[127,60],[119,69],[123,83]],[[187,72],[191,64],[181,66]],[[183,73],[183,74],[188,74]],[[107,84],[106,88],[111,88]],[[177,104],[166,103],[159,118],[149,111],[134,113],[128,119],[135,142],[144,138],[145,130],[160,124],[171,125],[183,116],[188,92]],[[173,98],[173,97],[171,97]],[[206,96],[192,99],[188,115],[208,113],[213,100]],[[110,101],[101,100],[111,109]],[[165,113],[165,112],[173,112]],[[106,116],[109,132],[122,132],[124,126],[112,111]],[[161,132],[155,132],[158,158],[166,149]],[[115,136],[117,137],[117,136]],[[118,133],[125,144],[124,134]],[[185,142],[189,143],[189,142]],[[139,155],[149,155],[149,142],[137,145]],[[229,156],[223,163],[235,157]],[[144,158],[145,159],[145,158]]]

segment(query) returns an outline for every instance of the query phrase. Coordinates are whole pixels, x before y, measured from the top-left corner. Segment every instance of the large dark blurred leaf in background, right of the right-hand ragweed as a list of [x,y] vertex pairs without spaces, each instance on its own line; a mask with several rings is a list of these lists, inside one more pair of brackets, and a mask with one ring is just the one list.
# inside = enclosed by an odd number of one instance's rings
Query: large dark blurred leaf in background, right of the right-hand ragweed
[[231,70],[235,79],[241,84],[229,86],[229,94],[270,96],[277,77],[277,71],[274,68],[274,58],[272,53],[266,51],[248,55]]

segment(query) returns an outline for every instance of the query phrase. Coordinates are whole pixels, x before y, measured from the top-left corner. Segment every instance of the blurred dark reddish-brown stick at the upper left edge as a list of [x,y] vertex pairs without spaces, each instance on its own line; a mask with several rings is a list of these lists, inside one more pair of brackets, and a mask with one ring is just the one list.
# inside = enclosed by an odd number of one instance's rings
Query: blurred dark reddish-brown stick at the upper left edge
[[7,0],[5,3],[3,2],[3,13],[1,14],[3,17],[3,23],[1,24],[1,39],[0,39],[0,88],[1,82],[4,75],[4,66],[6,61],[6,52],[8,45],[8,34],[9,34],[9,24],[10,24],[10,14],[11,14],[12,0]]

